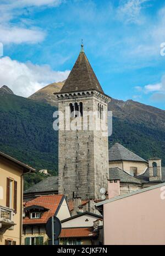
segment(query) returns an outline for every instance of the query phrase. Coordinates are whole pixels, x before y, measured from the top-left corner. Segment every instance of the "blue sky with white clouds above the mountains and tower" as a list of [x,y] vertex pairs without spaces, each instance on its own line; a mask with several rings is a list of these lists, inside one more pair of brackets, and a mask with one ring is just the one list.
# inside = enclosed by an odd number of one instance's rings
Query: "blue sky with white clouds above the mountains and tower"
[[165,109],[164,0],[1,0],[0,86],[27,97],[64,80],[81,39],[106,94]]

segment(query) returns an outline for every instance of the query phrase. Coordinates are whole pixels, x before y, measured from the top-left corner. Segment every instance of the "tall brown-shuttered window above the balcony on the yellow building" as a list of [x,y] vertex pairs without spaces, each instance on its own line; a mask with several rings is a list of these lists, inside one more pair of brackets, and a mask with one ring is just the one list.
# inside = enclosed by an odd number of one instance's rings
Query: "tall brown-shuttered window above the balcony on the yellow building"
[[6,206],[17,213],[17,181],[7,178]]

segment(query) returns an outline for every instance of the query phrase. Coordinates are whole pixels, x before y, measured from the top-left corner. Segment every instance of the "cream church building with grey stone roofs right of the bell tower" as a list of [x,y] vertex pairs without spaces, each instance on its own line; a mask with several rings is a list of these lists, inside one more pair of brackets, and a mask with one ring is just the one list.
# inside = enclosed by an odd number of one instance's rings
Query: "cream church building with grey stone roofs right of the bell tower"
[[108,198],[165,182],[161,159],[146,161],[116,143],[109,148]]

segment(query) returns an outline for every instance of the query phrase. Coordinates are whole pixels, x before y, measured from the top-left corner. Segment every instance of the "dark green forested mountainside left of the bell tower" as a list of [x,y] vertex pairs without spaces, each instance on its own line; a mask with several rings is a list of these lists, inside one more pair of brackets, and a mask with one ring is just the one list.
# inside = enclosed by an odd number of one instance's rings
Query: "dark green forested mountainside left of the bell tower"
[[[0,95],[0,151],[31,167],[58,172],[58,134],[53,130],[53,112],[44,103],[12,94]],[[25,175],[25,186],[43,179],[40,173]]]

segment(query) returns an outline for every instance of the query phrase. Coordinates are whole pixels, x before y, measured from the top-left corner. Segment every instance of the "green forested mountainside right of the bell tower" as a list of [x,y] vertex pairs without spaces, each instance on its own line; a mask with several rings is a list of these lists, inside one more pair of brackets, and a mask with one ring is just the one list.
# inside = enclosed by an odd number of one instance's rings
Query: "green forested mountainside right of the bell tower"
[[165,166],[165,132],[157,126],[150,127],[147,123],[139,124],[127,119],[113,118],[109,147],[116,142],[146,160],[153,156],[160,157],[162,165]]

